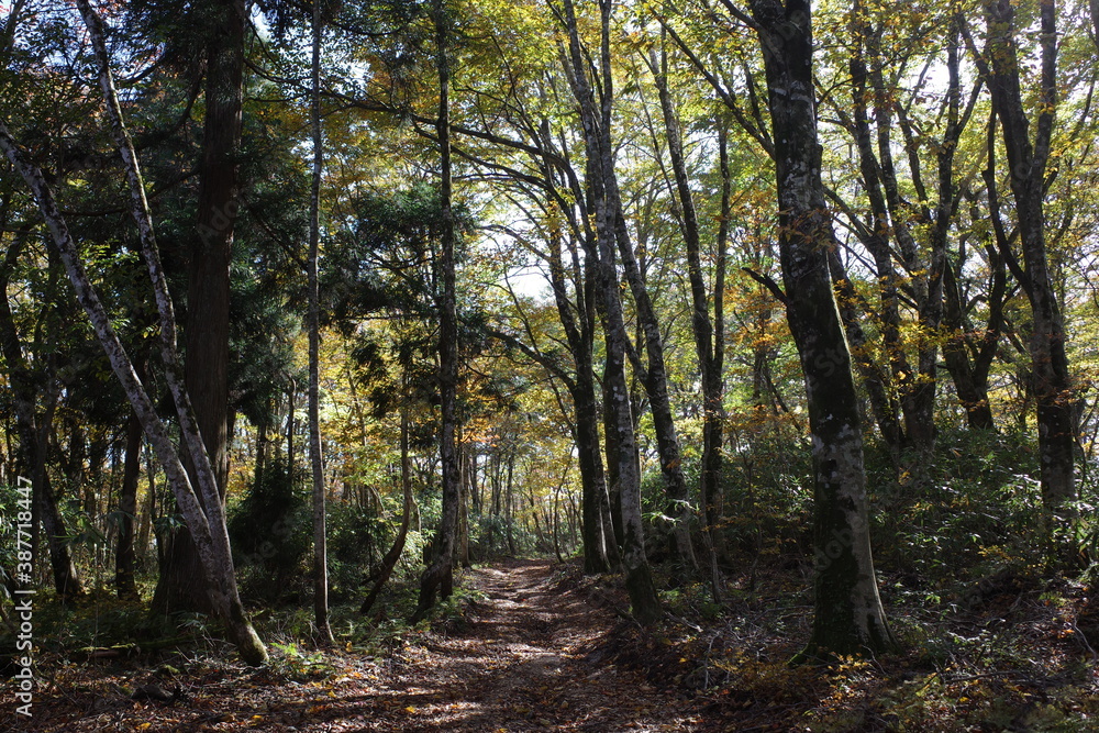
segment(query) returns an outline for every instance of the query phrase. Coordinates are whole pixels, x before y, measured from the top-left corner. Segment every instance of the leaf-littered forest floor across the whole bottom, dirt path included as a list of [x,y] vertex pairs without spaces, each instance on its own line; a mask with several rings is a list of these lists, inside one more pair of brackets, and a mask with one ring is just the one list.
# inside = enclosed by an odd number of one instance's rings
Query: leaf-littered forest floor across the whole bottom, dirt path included
[[265,628],[263,668],[209,636],[131,658],[40,653],[33,717],[13,714],[5,681],[0,731],[1099,730],[1095,588],[1010,574],[962,598],[902,586],[882,585],[900,652],[791,667],[811,620],[796,568],[752,568],[720,606],[682,585],[642,629],[621,578],[503,560],[464,571],[435,622],[380,622],[367,637],[381,641],[318,648]]

